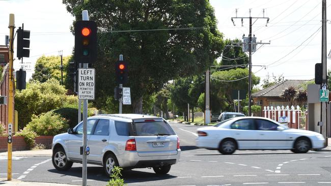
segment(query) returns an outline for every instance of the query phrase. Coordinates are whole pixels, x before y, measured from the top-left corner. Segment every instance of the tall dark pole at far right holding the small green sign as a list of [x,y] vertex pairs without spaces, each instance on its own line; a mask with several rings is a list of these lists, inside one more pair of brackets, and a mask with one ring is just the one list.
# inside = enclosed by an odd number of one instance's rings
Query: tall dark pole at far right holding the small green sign
[[[322,0],[322,84],[321,89],[327,89],[327,79],[326,79],[326,0]],[[324,87],[323,87],[324,86]],[[327,95],[328,96],[328,95]],[[325,137],[325,142],[327,145],[327,104],[326,102],[321,103],[321,117],[323,126],[321,126],[321,134]]]

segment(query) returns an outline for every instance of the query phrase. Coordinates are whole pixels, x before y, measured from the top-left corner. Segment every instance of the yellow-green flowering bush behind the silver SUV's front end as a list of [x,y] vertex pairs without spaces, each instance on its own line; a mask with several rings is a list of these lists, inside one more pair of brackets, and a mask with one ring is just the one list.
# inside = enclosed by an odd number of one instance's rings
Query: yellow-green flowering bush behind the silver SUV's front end
[[33,115],[24,130],[34,131],[40,136],[54,136],[66,132],[68,127],[67,121],[60,114],[49,111],[39,116]]

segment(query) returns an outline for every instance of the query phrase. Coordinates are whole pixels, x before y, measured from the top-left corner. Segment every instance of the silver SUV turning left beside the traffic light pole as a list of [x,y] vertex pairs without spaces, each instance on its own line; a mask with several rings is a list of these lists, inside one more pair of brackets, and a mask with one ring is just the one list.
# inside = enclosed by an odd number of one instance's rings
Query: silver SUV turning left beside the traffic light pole
[[[88,118],[90,164],[101,165],[107,175],[114,166],[122,168],[152,167],[156,174],[167,174],[179,161],[179,138],[161,117],[142,114],[107,114]],[[82,122],[68,133],[54,136],[52,163],[61,171],[81,163]]]

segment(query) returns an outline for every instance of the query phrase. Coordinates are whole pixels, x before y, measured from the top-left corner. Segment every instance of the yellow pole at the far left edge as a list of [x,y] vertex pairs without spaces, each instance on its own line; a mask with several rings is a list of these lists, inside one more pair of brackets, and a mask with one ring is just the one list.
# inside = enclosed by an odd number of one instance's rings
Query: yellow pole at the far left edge
[[14,14],[9,14],[9,84],[8,84],[8,170],[7,170],[7,180],[12,180],[12,128],[14,123],[13,113],[14,113],[14,78],[13,78],[13,54],[14,54],[14,28],[15,28],[15,16]]

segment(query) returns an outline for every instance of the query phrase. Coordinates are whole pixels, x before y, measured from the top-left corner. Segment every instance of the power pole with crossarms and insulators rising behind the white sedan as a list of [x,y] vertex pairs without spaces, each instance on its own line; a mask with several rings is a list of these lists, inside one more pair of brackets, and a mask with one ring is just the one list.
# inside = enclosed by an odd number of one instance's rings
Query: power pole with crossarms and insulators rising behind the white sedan
[[[268,17],[264,17],[264,9],[263,9],[263,17],[252,17],[251,16],[251,11],[250,9],[250,17],[238,17],[237,16],[237,9],[236,9],[236,17],[231,17],[231,21],[234,24],[233,19],[241,19],[241,26],[243,26],[243,19],[250,19],[250,34],[249,34],[249,55],[250,55],[250,60],[249,60],[249,116],[252,115],[252,110],[251,110],[251,101],[252,101],[252,26],[253,24],[258,20],[258,19],[267,19],[267,23],[265,24],[267,26],[269,22]],[[252,19],[256,19],[254,23],[252,23]],[[270,43],[263,43],[263,44],[270,44]]]

